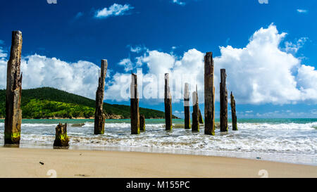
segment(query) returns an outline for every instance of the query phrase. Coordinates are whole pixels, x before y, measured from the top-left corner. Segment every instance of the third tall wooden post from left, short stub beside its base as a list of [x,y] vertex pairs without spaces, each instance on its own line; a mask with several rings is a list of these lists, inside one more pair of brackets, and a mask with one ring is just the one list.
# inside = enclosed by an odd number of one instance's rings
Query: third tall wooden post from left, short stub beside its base
[[139,94],[137,91],[137,75],[131,75],[131,134],[139,134]]

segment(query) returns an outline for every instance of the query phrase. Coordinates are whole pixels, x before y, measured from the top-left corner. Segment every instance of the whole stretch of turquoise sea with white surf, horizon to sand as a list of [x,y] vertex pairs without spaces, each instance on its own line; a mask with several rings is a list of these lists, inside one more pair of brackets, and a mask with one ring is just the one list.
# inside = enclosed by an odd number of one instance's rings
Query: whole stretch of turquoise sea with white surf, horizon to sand
[[[130,134],[130,120],[106,120],[105,134],[94,135],[94,120],[23,120],[21,148],[52,148],[58,122],[68,123],[70,150],[142,151],[217,155],[317,165],[317,119],[240,119],[239,131],[215,136],[183,129],[184,120],[146,120],[146,132]],[[216,120],[218,122],[218,120]],[[0,145],[4,145],[4,120],[0,120]]]

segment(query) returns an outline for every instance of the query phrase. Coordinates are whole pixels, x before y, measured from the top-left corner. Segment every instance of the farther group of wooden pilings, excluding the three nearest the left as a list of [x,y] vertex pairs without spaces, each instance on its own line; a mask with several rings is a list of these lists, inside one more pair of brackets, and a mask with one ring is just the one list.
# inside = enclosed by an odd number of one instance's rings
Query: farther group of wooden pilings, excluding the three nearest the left
[[[215,87],[213,86],[213,56],[211,52],[206,53],[204,57],[204,96],[205,96],[205,122],[199,110],[198,91],[192,93],[193,112],[192,112],[192,132],[199,132],[199,124],[204,124],[204,134],[215,134]],[[228,132],[228,91],[226,88],[225,69],[220,70],[220,132]],[[232,92],[230,95],[231,114],[232,114],[232,130],[237,130],[237,115],[235,110],[235,97]],[[164,89],[164,105],[165,105],[165,121],[166,130],[172,130],[172,97],[169,87],[169,75],[165,74]],[[137,93],[137,75],[132,74],[131,81],[131,134],[139,134],[142,127],[144,131],[144,116],[139,116],[139,98]],[[185,83],[184,91],[184,113],[185,113],[185,129],[190,129],[190,110],[189,110],[189,84]],[[140,123],[142,122],[142,123]]]

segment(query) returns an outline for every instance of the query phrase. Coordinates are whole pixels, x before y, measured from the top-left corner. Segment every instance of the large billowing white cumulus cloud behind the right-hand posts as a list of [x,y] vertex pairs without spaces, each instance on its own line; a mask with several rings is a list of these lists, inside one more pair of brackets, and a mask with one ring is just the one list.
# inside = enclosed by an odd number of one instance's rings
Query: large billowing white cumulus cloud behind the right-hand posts
[[[286,33],[279,33],[277,27],[272,24],[254,32],[247,46],[243,48],[220,46],[220,56],[214,58],[216,100],[219,100],[220,69],[225,68],[228,93],[232,91],[239,103],[285,104],[299,101],[316,103],[317,71],[309,65],[302,65],[299,58],[285,51],[285,47],[280,47],[285,36]],[[297,42],[300,47],[302,41],[304,39]],[[170,87],[174,90],[174,98],[182,98],[184,82],[191,83],[191,91],[194,91],[194,85],[197,84],[199,103],[202,103],[204,101],[204,54],[197,49],[189,49],[179,57],[173,53],[147,50],[136,60],[143,63],[146,68],[144,77],[153,75],[162,77],[164,73],[170,73]],[[182,75],[189,76],[184,79]],[[163,92],[164,79],[159,78],[156,81],[159,81],[153,85],[156,91]],[[120,82],[112,83],[111,87],[120,87],[118,86]],[[118,96],[119,93],[113,95]],[[159,97],[161,98],[161,95]],[[113,97],[113,99],[118,98]]]

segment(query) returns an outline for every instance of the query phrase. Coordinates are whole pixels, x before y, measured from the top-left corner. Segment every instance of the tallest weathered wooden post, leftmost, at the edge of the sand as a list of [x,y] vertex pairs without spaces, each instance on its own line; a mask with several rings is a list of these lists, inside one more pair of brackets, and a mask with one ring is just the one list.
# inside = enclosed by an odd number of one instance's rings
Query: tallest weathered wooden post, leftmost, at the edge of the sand
[[10,59],[6,70],[6,119],[4,120],[4,144],[20,144],[22,124],[20,74],[22,32],[13,31]]

